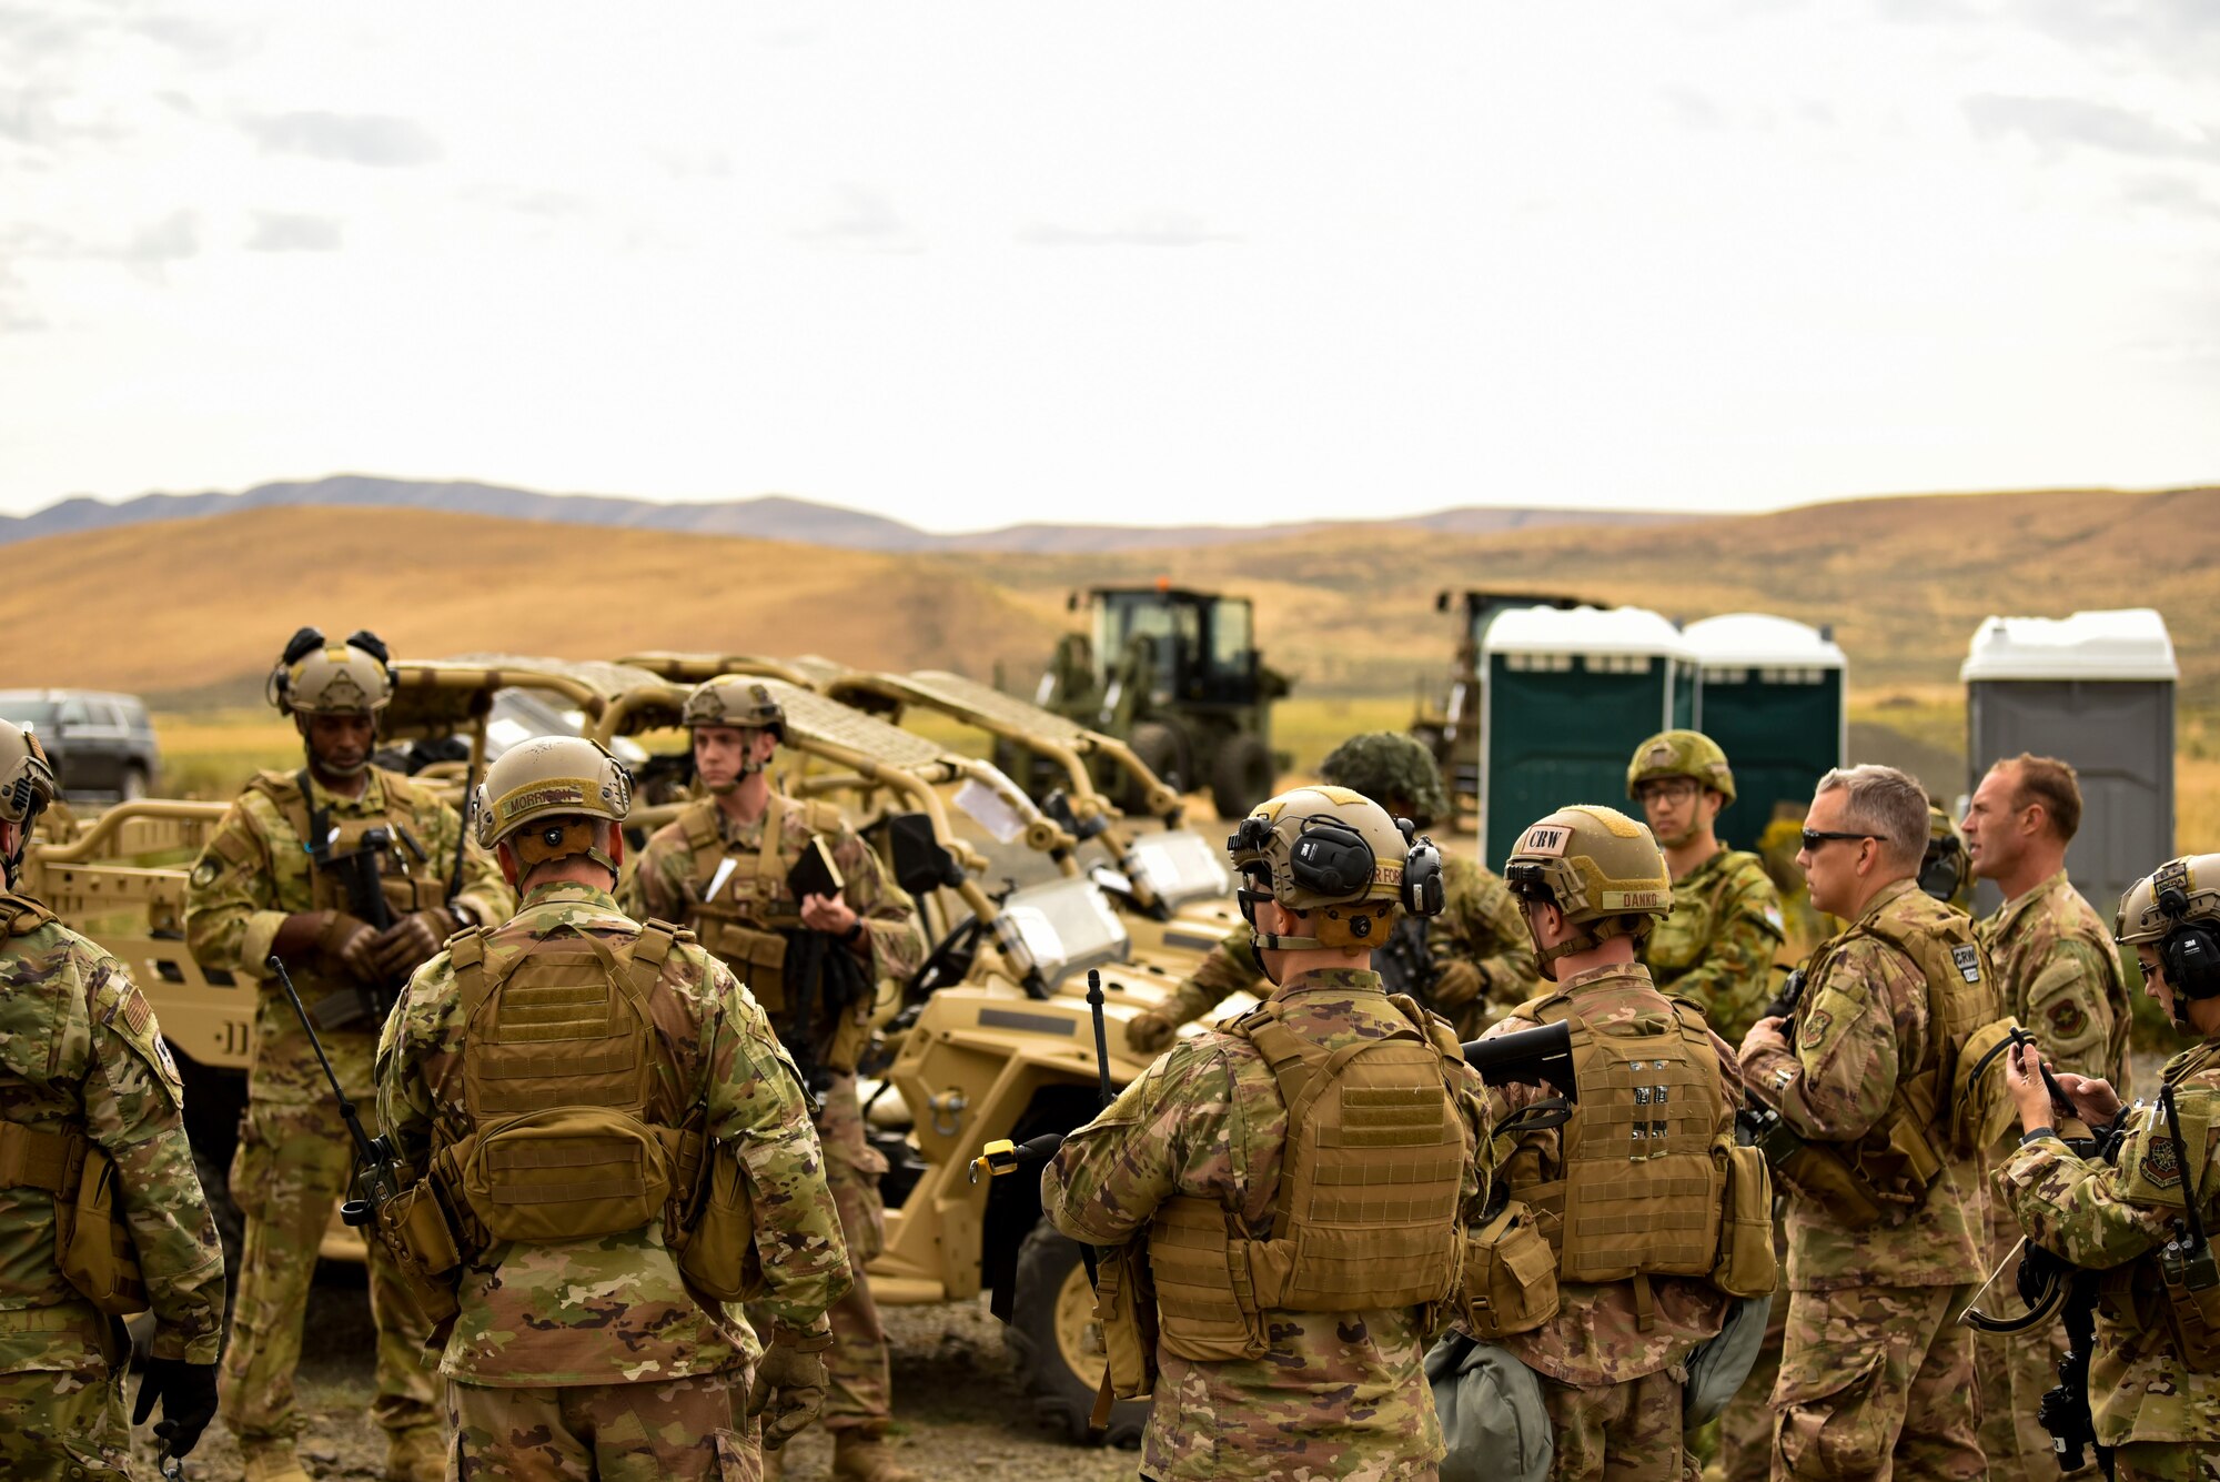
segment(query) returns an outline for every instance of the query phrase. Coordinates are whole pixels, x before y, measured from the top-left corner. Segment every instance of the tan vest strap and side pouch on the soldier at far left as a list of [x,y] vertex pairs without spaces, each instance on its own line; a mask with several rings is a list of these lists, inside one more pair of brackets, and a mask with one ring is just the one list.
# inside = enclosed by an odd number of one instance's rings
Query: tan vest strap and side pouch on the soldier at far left
[[[56,921],[29,896],[0,894],[0,941]],[[0,1120],[0,1189],[53,1196],[53,1262],[80,1296],[118,1318],[147,1311],[138,1247],[115,1196],[115,1165],[84,1136],[82,1116],[58,1127]]]

